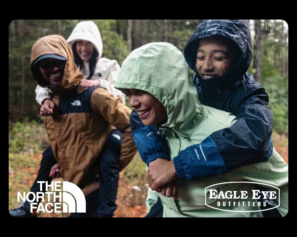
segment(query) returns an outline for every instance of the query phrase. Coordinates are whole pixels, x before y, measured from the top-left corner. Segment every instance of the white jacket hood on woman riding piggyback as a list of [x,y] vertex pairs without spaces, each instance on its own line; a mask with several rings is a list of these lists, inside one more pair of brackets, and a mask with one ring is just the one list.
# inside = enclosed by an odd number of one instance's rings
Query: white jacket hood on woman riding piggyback
[[77,40],[90,41],[98,52],[96,63],[102,56],[103,43],[98,26],[92,21],[81,21],[73,29],[72,33],[67,39],[67,42],[72,48],[72,44]]

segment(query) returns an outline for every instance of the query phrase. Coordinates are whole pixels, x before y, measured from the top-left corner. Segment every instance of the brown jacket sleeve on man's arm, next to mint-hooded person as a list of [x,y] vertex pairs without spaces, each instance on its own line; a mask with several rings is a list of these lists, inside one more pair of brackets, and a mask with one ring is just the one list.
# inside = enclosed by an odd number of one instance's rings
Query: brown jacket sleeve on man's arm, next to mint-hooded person
[[131,110],[120,102],[118,97],[113,97],[106,89],[97,88],[91,95],[93,111],[101,115],[105,121],[115,126],[124,133],[121,143],[120,170],[132,160],[136,153],[136,146],[130,129]]

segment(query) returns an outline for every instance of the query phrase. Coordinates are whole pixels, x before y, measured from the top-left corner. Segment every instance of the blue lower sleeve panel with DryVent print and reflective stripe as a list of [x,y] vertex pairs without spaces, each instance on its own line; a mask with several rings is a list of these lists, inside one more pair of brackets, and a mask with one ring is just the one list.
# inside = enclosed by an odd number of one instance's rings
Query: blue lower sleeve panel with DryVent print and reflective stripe
[[179,180],[201,180],[227,172],[226,163],[210,136],[182,150],[173,163]]

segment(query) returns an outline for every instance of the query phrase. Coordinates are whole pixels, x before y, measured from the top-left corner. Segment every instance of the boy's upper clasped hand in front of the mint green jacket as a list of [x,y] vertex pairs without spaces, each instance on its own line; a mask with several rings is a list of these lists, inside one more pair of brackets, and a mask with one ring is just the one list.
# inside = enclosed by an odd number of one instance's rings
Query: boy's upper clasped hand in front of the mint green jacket
[[161,186],[175,180],[177,174],[173,161],[167,161],[162,158],[151,161],[146,178],[151,190],[158,190]]

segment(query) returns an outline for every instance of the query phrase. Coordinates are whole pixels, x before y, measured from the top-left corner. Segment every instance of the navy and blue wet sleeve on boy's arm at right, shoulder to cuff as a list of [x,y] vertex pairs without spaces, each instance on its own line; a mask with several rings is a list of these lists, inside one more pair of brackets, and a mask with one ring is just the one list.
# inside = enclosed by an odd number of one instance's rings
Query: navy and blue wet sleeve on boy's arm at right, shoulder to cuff
[[173,159],[179,179],[202,179],[268,160],[273,150],[273,120],[272,112],[266,107],[268,95],[259,85],[242,84],[246,88],[238,88],[233,96],[230,112],[238,121],[212,133],[200,144],[186,148]]

